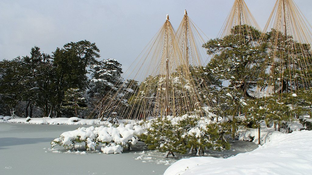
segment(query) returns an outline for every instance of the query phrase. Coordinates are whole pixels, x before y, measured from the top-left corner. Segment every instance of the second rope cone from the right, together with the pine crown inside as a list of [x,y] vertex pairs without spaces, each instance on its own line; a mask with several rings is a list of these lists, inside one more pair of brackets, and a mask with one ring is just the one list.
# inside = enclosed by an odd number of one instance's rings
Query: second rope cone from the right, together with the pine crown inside
[[260,39],[261,29],[245,1],[235,0],[218,37],[203,45],[212,57],[208,63],[212,72],[219,73],[231,88],[243,90],[245,98],[254,98],[248,89],[256,86],[265,57]]

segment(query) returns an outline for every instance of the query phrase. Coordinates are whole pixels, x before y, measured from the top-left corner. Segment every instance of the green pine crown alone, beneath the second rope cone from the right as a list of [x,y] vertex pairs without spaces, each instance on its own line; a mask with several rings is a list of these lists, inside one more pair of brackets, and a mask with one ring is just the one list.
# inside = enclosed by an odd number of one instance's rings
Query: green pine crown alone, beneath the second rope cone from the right
[[266,57],[267,42],[260,36],[257,29],[243,25],[233,27],[231,34],[222,39],[209,40],[203,47],[213,58],[206,70],[217,79],[228,81],[228,87],[240,88],[245,97],[250,97],[247,91],[257,84],[259,68]]

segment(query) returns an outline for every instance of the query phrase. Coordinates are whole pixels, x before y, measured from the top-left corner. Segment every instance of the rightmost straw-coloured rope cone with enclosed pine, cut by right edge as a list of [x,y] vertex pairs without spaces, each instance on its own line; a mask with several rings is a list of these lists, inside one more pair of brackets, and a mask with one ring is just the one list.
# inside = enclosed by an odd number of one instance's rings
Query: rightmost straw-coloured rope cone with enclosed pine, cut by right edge
[[282,97],[283,92],[311,87],[311,34],[311,25],[293,0],[275,2],[262,36],[270,43],[258,85],[266,94]]

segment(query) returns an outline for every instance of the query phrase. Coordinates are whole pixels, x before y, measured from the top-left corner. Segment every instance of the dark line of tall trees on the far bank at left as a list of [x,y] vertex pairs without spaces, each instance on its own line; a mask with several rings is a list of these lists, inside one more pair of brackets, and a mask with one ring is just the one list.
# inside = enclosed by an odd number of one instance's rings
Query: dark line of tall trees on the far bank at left
[[30,55],[0,62],[0,115],[86,117],[121,78],[121,64],[99,61],[87,40],[67,43],[52,54],[35,46]]

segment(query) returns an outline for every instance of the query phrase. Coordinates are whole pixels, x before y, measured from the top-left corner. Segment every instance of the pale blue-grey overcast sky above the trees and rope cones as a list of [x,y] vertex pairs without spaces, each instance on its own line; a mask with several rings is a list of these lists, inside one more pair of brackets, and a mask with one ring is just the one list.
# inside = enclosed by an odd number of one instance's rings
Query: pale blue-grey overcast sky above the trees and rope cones
[[[33,46],[51,54],[71,41],[89,40],[101,59],[117,59],[127,69],[170,15],[175,29],[184,9],[209,37],[215,38],[234,0],[0,0],[0,60],[29,55]],[[263,28],[275,0],[245,0]],[[311,0],[296,0],[312,21]]]

